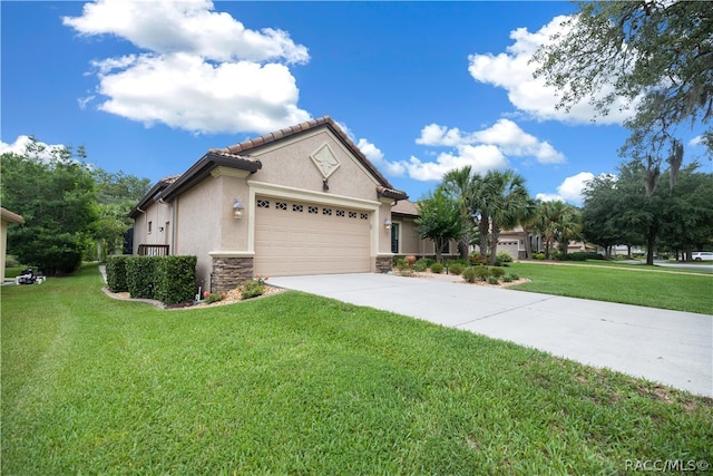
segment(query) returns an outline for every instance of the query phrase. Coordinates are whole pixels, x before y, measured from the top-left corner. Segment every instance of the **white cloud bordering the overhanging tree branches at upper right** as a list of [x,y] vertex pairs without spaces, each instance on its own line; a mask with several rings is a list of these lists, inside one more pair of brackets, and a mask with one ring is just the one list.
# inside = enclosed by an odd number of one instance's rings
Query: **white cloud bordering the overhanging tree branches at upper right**
[[[572,107],[567,113],[557,110],[557,90],[545,86],[543,78],[535,79],[533,74],[536,65],[529,64],[539,46],[548,41],[556,32],[561,32],[561,22],[567,17],[555,17],[548,25],[537,32],[529,32],[526,28],[518,28],[510,32],[514,43],[507,47],[506,52],[473,54],[468,57],[470,66],[468,71],[480,82],[490,84],[504,88],[508,93],[510,103],[537,119],[560,120],[573,124],[589,124],[596,118],[599,124],[622,124],[629,113],[619,110],[619,104],[612,107],[607,116],[597,116],[594,107],[584,101]],[[609,90],[602,90],[605,95]]]

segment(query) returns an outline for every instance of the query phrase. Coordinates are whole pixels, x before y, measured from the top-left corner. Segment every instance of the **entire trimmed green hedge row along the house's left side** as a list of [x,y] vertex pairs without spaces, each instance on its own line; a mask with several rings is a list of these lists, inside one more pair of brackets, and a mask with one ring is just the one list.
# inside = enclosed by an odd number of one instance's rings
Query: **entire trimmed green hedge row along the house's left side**
[[164,304],[192,301],[196,288],[196,256],[107,258],[107,288],[131,298],[156,299]]

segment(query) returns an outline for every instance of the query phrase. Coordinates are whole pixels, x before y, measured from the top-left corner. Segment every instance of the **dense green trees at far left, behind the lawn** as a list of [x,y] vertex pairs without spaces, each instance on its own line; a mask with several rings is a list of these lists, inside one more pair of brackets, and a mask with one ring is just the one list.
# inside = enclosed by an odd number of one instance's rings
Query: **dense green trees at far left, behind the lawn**
[[46,147],[35,138],[23,154],[1,155],[0,203],[25,218],[9,227],[8,250],[22,264],[70,273],[90,251],[121,249],[128,213],[150,181],[94,168],[86,158],[84,147]]

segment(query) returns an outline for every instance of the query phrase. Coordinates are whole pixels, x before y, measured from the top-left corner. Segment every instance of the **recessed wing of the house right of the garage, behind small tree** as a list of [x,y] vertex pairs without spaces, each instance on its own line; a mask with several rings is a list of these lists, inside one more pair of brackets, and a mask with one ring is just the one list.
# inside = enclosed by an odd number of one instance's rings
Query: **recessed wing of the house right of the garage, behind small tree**
[[[402,200],[391,207],[391,252],[395,255],[436,256],[432,240],[419,237],[416,218],[419,217],[417,204]],[[458,258],[458,242],[451,241],[443,250],[445,258]]]

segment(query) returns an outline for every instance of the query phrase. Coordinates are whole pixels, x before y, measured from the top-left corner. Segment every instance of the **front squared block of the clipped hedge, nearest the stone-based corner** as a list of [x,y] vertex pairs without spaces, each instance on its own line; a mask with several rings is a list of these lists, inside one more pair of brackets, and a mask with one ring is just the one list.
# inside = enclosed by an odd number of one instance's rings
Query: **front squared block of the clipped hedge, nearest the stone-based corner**
[[155,270],[155,299],[164,304],[193,301],[197,262],[197,256],[159,256]]

